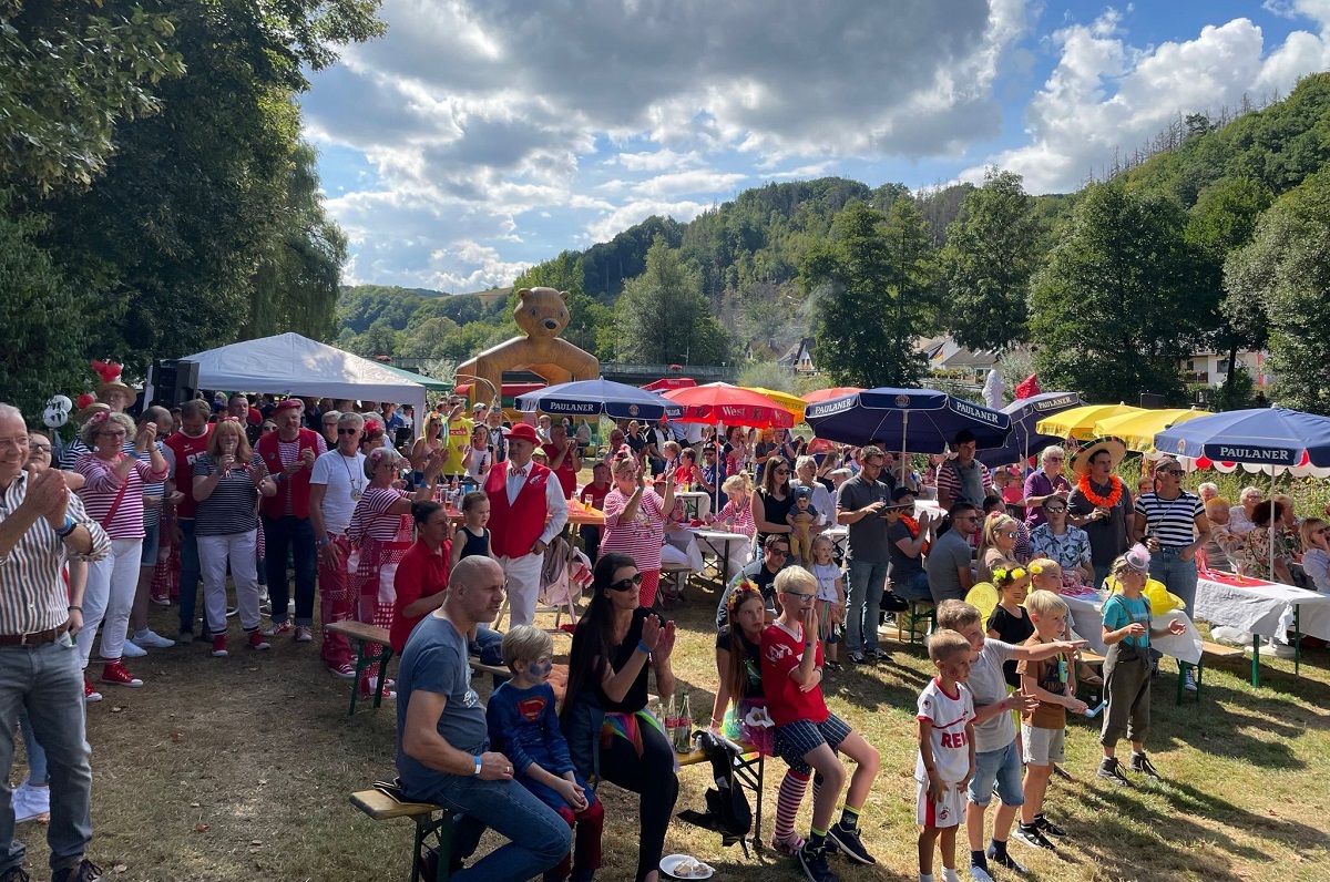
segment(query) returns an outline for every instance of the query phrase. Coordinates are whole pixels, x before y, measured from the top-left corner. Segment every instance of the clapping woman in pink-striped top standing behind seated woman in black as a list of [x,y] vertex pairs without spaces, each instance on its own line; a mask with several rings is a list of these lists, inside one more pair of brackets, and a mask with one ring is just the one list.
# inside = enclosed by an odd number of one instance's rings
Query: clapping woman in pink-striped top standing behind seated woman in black
[[641,571],[638,603],[656,605],[661,577],[661,545],[665,519],[674,511],[674,476],[665,476],[665,495],[646,486],[644,466],[636,456],[620,456],[610,464],[614,486],[605,494],[605,535],[600,553],[630,556]]

